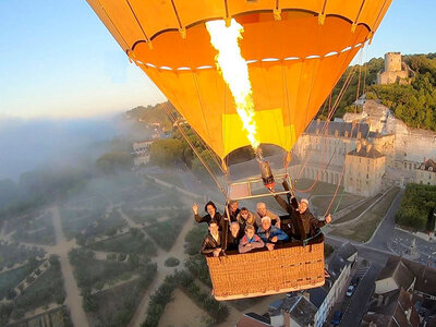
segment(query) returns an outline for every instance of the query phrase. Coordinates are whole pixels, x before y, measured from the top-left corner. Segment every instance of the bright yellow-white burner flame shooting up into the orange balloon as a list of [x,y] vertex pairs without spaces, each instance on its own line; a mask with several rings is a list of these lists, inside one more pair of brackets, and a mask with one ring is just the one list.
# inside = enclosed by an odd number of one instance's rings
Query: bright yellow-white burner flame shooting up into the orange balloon
[[229,85],[233,95],[237,112],[242,120],[247,138],[256,152],[259,141],[256,138],[256,122],[254,120],[254,102],[252,97],[252,84],[249,76],[249,66],[242,58],[239,39],[242,39],[244,27],[233,19],[229,27],[225,21],[206,22],[207,32],[210,35],[210,44],[217,49],[215,57],[218,70]]

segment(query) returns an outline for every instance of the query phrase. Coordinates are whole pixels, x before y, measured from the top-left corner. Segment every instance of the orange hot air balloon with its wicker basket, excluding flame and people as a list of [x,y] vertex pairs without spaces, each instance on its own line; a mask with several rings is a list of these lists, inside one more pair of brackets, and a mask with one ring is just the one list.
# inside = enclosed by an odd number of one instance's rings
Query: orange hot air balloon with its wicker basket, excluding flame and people
[[[221,159],[250,145],[217,69],[206,22],[235,20],[257,138],[289,153],[391,0],[87,0],[129,58]],[[231,196],[228,196],[231,197]],[[324,283],[323,240],[272,252],[207,258],[218,300]],[[246,258],[245,266],[241,257]],[[250,274],[244,269],[261,267]],[[247,271],[247,270],[245,270]],[[238,279],[240,277],[240,279]],[[231,286],[228,286],[229,282]]]

